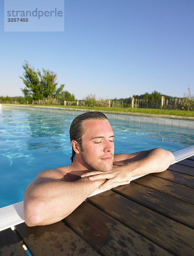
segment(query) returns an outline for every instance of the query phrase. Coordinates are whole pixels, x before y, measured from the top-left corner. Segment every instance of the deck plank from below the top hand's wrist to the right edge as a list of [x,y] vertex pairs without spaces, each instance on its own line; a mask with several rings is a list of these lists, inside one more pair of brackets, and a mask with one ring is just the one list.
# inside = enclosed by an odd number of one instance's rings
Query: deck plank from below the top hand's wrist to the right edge
[[160,192],[148,189],[131,182],[125,186],[119,186],[113,191],[124,195],[149,209],[153,209],[169,218],[179,221],[180,223],[194,228],[194,205],[161,194]]

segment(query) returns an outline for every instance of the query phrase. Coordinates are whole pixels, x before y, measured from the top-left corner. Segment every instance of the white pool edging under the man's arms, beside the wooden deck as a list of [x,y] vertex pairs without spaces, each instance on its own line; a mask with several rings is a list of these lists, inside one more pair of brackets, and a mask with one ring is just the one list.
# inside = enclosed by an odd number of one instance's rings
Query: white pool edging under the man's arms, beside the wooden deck
[[[185,158],[193,156],[194,146],[173,152],[173,154],[174,154],[175,160],[171,164],[177,163],[181,160],[184,160]],[[131,177],[130,181],[135,180],[142,176],[144,175]],[[90,196],[97,195],[106,190],[94,191]],[[9,227],[11,227],[11,229],[14,230],[14,226],[22,222],[24,222],[23,201],[0,208],[0,231],[5,230],[6,228],[9,228]]]

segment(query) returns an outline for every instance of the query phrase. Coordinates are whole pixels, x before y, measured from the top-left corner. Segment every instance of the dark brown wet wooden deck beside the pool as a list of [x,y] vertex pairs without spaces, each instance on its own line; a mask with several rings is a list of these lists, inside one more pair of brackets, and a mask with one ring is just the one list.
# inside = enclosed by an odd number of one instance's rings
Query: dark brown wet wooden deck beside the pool
[[193,256],[194,156],[88,198],[63,221],[0,232],[0,256]]

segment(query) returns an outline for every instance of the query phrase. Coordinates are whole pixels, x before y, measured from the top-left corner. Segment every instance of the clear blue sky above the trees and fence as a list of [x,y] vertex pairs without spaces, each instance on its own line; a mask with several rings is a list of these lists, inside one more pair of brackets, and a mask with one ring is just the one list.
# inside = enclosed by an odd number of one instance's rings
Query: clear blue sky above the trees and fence
[[194,92],[193,0],[65,0],[64,32],[4,32],[0,96],[22,96],[24,60],[83,99]]

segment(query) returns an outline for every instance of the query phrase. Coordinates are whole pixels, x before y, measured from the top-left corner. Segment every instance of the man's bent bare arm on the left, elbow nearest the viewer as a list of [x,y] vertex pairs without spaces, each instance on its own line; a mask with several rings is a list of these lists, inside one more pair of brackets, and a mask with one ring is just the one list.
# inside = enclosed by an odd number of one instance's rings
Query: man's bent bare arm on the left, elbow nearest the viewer
[[28,226],[47,225],[62,220],[104,182],[91,181],[87,177],[67,182],[63,181],[62,174],[54,170],[47,171],[40,172],[26,189],[24,218]]

